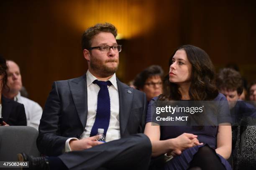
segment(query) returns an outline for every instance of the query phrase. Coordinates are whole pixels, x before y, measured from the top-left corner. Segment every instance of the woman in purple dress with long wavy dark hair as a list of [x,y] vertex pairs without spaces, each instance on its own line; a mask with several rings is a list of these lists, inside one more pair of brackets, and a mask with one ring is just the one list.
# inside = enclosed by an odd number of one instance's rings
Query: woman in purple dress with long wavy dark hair
[[[169,77],[163,94],[148,105],[144,133],[152,143],[152,157],[165,154],[169,158],[165,170],[201,169],[229,170],[231,153],[231,119],[227,99],[215,86],[215,69],[201,48],[185,45],[177,48],[169,61]],[[212,126],[153,125],[151,106],[154,101],[224,101],[218,105],[218,124]],[[173,157],[173,158],[172,158]],[[172,158],[172,159],[171,159]]]

